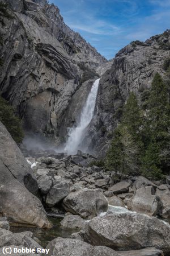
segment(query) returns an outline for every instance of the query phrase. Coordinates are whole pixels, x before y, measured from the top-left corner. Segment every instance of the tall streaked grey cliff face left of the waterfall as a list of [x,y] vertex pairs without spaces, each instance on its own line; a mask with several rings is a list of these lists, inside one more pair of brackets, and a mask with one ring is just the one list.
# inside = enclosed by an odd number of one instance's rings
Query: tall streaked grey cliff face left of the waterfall
[[107,60],[66,26],[58,7],[46,0],[3,2],[14,18],[3,18],[6,26],[0,27],[2,95],[23,118],[25,129],[61,137],[63,114],[81,86],[84,71],[78,64],[96,68]]

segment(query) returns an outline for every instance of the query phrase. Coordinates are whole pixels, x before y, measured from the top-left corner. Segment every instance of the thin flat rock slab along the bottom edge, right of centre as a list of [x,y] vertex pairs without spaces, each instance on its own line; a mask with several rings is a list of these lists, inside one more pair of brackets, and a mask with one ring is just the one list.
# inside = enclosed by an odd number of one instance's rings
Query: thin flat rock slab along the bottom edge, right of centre
[[120,256],[162,256],[163,251],[156,248],[145,248],[133,251],[119,251]]

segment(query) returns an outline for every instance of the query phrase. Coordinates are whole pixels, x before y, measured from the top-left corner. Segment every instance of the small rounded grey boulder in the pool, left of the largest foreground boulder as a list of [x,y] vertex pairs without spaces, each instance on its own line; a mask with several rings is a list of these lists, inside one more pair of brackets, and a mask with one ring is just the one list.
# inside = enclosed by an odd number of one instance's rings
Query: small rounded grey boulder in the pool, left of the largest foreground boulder
[[79,215],[67,215],[60,222],[63,228],[72,228],[72,229],[83,229],[86,222]]

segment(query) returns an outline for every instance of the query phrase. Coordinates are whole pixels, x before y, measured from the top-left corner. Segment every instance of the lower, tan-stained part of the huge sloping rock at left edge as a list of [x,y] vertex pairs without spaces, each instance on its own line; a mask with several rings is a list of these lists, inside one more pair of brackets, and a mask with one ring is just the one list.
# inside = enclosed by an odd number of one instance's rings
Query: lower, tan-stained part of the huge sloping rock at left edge
[[50,224],[40,200],[15,179],[1,160],[0,172],[0,213],[2,216],[11,218],[13,222],[49,228]]

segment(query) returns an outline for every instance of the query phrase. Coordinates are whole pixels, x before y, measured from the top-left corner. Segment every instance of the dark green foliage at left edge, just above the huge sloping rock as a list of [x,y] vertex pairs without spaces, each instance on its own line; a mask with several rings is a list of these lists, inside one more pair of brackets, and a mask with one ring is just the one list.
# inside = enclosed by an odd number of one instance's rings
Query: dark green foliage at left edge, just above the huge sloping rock
[[21,121],[14,114],[12,106],[0,96],[0,121],[6,126],[16,143],[21,143],[24,137]]

